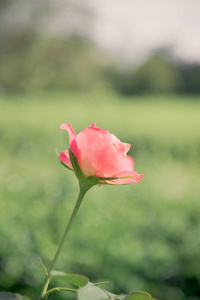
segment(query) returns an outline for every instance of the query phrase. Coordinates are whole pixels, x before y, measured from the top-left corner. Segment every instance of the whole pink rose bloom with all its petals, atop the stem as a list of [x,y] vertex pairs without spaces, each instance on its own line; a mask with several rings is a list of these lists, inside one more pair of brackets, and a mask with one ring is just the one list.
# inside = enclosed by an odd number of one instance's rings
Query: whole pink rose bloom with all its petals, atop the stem
[[131,145],[120,142],[109,131],[98,128],[94,123],[78,135],[70,124],[62,124],[60,128],[67,130],[69,134],[70,150],[61,152],[59,160],[77,176],[70,153],[77,159],[78,168],[80,167],[84,178],[99,178],[97,183],[138,183],[143,177],[133,171],[134,160],[127,155]]

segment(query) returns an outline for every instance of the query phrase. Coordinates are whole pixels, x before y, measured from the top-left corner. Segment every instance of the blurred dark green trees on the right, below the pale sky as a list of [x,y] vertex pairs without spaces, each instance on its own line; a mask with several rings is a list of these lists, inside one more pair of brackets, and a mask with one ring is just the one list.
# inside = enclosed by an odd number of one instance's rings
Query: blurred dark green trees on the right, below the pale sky
[[[164,53],[163,53],[164,52]],[[108,81],[122,95],[199,94],[200,65],[177,62],[170,52],[153,53],[140,67],[115,66],[107,72]]]

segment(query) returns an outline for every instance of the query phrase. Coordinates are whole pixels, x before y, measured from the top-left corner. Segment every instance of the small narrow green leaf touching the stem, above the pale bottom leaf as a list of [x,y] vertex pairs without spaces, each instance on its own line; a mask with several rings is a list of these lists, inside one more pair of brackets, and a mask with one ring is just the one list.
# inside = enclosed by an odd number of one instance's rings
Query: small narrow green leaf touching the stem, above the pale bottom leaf
[[51,276],[63,277],[67,282],[78,287],[84,287],[89,282],[89,279],[86,276],[80,274],[67,274],[61,271],[52,271]]

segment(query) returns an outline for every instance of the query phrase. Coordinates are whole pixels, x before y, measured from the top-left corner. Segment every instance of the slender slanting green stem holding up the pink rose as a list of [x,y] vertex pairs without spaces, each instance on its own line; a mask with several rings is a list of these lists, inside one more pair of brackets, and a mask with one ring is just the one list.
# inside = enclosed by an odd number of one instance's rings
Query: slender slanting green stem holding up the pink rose
[[64,242],[65,242],[65,240],[66,240],[66,238],[67,238],[67,235],[68,235],[68,233],[69,233],[69,230],[70,230],[70,228],[71,228],[71,225],[72,225],[72,223],[73,223],[73,221],[74,221],[74,219],[75,219],[75,217],[76,217],[76,215],[77,215],[77,212],[78,212],[78,210],[79,210],[79,208],[80,208],[80,205],[81,205],[81,203],[82,203],[82,200],[83,200],[83,198],[84,198],[86,192],[87,192],[93,185],[88,184],[86,181],[79,181],[79,186],[80,186],[80,192],[79,192],[79,195],[78,195],[78,199],[77,199],[76,204],[75,204],[75,206],[74,206],[72,215],[71,215],[70,220],[69,220],[69,222],[68,222],[68,224],[67,224],[67,227],[66,227],[65,232],[64,232],[64,234],[63,234],[63,237],[62,237],[62,239],[61,239],[61,242],[60,242],[60,244],[59,244],[59,246],[58,246],[57,252],[56,252],[56,254],[55,254],[55,256],[54,256],[54,259],[53,259],[53,261],[52,261],[51,268],[50,268],[50,270],[48,271],[48,274],[47,274],[46,277],[45,277],[45,281],[44,281],[44,285],[43,285],[43,288],[42,288],[42,292],[41,292],[41,294],[40,294],[38,300],[44,299],[45,293],[47,292],[48,285],[49,285],[49,282],[50,282],[51,272],[54,270],[54,267],[55,267],[55,265],[56,265],[56,263],[57,263],[57,261],[58,261],[58,258],[59,258],[59,256],[60,256],[61,251],[62,251]]

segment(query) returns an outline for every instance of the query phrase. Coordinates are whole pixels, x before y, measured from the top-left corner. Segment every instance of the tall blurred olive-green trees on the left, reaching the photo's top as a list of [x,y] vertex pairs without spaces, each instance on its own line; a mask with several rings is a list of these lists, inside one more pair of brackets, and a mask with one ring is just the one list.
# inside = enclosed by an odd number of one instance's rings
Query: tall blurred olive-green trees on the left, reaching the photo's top
[[[84,90],[99,81],[97,51],[73,28],[74,24],[67,25],[71,31],[68,34],[52,36],[44,32],[56,10],[54,7],[51,11],[49,2],[31,1],[28,6],[23,0],[17,4],[0,2],[0,90]],[[71,17],[87,16],[75,2],[65,2]]]

